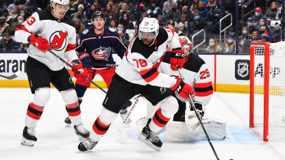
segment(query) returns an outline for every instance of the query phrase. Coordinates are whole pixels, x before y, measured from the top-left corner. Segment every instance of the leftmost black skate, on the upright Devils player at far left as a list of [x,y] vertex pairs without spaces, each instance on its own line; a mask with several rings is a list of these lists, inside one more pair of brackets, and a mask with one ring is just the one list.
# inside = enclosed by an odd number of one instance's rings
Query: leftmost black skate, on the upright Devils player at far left
[[36,140],[37,138],[35,135],[35,129],[25,126],[23,130],[23,140],[21,144],[23,146],[34,146],[34,143],[36,142]]

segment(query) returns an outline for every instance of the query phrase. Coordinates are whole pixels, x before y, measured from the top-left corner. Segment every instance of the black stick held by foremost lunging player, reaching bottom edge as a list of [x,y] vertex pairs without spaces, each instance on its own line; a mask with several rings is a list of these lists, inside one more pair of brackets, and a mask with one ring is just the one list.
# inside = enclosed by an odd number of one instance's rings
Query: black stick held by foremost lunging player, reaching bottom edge
[[[178,72],[179,72],[179,75],[180,75],[182,81],[185,82],[181,70],[180,70],[179,68],[178,68],[177,70],[178,70]],[[214,152],[214,155],[215,155],[216,159],[219,160],[218,155],[216,155],[216,150],[214,150],[214,146],[213,146],[213,144],[212,144],[212,142],[211,142],[211,139],[210,139],[210,137],[209,137],[209,135],[208,135],[208,133],[207,133],[207,131],[206,131],[206,129],[205,129],[205,126],[203,125],[203,122],[202,122],[200,116],[198,115],[197,109],[196,109],[196,107],[195,107],[195,105],[194,105],[194,103],[193,103],[193,100],[192,100],[192,98],[191,98],[191,95],[190,95],[189,93],[188,93],[188,97],[189,97],[190,107],[192,107],[193,110],[195,111],[195,114],[196,114],[196,116],[197,116],[197,118],[198,118],[198,120],[199,120],[199,122],[200,122],[200,124],[201,124],[201,126],[202,126],[202,128],[203,128],[203,132],[205,133],[205,136],[206,136],[206,138],[207,138],[207,140],[208,140],[208,143],[210,144],[210,146],[211,146],[211,148],[212,148],[212,151]],[[188,101],[186,101],[186,103],[187,103],[187,102],[188,102]]]

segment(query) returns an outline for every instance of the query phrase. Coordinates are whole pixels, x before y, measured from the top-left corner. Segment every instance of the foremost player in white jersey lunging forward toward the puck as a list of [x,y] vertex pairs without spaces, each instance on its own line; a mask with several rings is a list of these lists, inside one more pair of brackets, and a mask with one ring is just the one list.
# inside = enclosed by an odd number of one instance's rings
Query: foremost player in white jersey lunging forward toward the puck
[[172,96],[171,90],[182,98],[188,98],[188,94],[194,94],[193,88],[179,77],[170,77],[158,72],[157,68],[160,66],[167,45],[173,49],[171,68],[173,70],[177,66],[182,68],[184,53],[177,34],[174,34],[172,29],[160,27],[156,18],[144,18],[139,26],[138,37],[129,44],[125,57],[116,68],[103,101],[101,114],[92,126],[90,139],[80,143],[79,150],[91,150],[96,146],[99,139],[108,131],[121,106],[137,94],[145,96],[153,105],[160,106],[139,134],[140,140],[151,148],[160,150],[162,142],[156,133],[178,109],[178,103]]

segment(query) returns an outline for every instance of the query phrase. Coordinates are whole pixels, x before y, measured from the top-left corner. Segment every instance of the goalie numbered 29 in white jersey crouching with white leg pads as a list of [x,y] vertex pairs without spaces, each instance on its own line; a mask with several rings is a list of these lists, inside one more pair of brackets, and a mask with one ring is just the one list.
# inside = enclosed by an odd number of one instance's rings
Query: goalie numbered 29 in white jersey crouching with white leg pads
[[[206,63],[198,55],[191,53],[192,42],[186,36],[179,36],[179,42],[184,49],[184,66],[181,70],[185,82],[195,89],[193,102],[197,112],[206,128],[210,139],[225,139],[227,137],[226,124],[223,120],[216,118],[203,118],[205,106],[212,97],[213,88],[210,72]],[[165,54],[158,70],[170,76],[179,76],[177,71],[170,69],[170,54]],[[170,142],[192,142],[206,139],[201,124],[190,106],[185,101],[177,99],[179,109],[173,116],[173,121],[166,124],[164,139]],[[147,118],[140,118],[136,121],[138,131],[145,126],[146,121],[151,118],[159,106],[147,103]]]

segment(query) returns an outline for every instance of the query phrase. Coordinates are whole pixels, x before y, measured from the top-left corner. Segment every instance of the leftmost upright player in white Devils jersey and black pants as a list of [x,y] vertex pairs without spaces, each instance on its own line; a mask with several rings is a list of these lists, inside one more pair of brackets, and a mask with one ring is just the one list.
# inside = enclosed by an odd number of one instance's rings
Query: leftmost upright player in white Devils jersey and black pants
[[73,67],[80,70],[77,77],[85,79],[88,76],[75,53],[75,27],[71,18],[64,16],[67,10],[69,0],[51,0],[51,10],[35,12],[21,27],[16,28],[16,40],[31,43],[27,49],[26,68],[34,101],[27,108],[21,143],[25,146],[34,146],[37,140],[34,129],[49,101],[50,83],[60,91],[79,139],[89,136],[89,131],[82,125],[81,110],[71,76],[60,59],[49,53],[51,50],[62,58],[67,57]]

